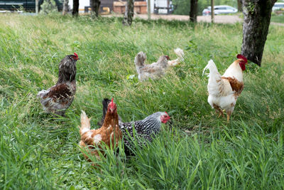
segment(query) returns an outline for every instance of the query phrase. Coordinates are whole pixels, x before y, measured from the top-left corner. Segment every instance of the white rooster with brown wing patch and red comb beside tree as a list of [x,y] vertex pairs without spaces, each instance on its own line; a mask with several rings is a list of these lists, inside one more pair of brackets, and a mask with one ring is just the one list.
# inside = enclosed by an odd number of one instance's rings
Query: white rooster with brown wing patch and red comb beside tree
[[222,76],[213,60],[208,61],[202,73],[204,75],[205,70],[209,69],[207,85],[209,105],[222,116],[224,116],[222,110],[225,110],[228,122],[234,111],[236,100],[244,89],[243,71],[246,70],[248,63],[248,60],[240,54],[236,58],[237,60],[231,63]]

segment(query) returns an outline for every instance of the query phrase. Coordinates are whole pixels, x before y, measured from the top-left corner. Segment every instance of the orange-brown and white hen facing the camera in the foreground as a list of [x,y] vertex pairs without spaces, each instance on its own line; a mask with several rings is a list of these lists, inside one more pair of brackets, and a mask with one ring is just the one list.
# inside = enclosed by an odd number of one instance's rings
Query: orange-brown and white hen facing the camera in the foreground
[[100,160],[97,149],[102,149],[100,144],[104,142],[108,147],[117,147],[122,138],[121,130],[119,130],[119,115],[117,115],[114,99],[112,99],[107,106],[107,114],[104,118],[102,127],[97,130],[91,130],[91,124],[89,122],[90,120],[91,119],[87,117],[86,113],[82,111],[81,127],[78,127],[80,128],[80,147],[82,148],[82,153],[89,162],[92,162],[88,155],[85,154],[85,151],[87,151],[88,154],[94,155]]

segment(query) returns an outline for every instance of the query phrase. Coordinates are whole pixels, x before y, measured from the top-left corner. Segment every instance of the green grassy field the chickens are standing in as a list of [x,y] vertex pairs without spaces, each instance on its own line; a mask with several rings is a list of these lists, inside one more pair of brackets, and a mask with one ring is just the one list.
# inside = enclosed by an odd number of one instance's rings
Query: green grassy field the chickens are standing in
[[[240,52],[242,26],[178,21],[0,15],[0,189],[283,189],[284,28],[271,26],[262,67],[249,64],[229,123],[207,103],[209,59],[220,73]],[[185,61],[165,78],[138,83],[133,58],[174,48]],[[66,117],[43,112],[36,94],[55,84],[76,52],[77,94]],[[148,63],[149,63],[148,62]],[[129,79],[129,75],[136,75]],[[102,117],[114,97],[124,121],[167,111],[151,144],[126,159],[111,150],[94,169],[82,156],[80,112]],[[120,144],[122,145],[122,144]]]

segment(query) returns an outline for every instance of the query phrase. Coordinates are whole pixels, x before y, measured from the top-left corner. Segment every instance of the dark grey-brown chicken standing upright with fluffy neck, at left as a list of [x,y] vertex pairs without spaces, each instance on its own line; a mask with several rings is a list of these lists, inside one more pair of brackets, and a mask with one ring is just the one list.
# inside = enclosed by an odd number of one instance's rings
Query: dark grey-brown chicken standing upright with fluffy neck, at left
[[45,112],[64,115],[72,104],[76,93],[76,62],[77,53],[65,56],[59,63],[58,82],[48,90],[41,90],[37,97]]

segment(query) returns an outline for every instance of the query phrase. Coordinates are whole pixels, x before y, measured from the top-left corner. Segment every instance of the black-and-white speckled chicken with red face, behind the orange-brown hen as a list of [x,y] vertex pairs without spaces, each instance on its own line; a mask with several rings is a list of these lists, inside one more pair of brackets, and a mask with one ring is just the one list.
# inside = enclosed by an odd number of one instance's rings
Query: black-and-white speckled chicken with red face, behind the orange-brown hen
[[[105,98],[103,100],[103,110],[107,109],[105,106],[107,102],[110,102],[110,100]],[[103,115],[103,119],[104,117],[105,115]],[[166,123],[168,120],[170,120],[170,116],[167,112],[155,112],[145,119],[135,122],[122,122],[119,120],[119,128],[124,136],[124,144],[126,145],[124,146],[126,155],[131,155],[131,150],[133,150],[133,127],[136,130],[137,137],[142,137],[145,140],[144,142],[151,142],[152,138],[160,131],[161,123]]]

